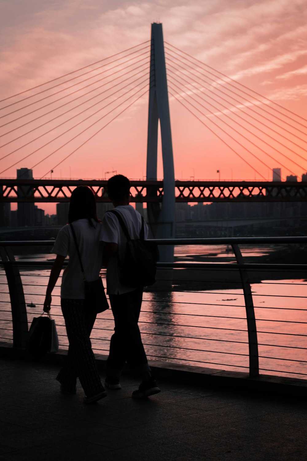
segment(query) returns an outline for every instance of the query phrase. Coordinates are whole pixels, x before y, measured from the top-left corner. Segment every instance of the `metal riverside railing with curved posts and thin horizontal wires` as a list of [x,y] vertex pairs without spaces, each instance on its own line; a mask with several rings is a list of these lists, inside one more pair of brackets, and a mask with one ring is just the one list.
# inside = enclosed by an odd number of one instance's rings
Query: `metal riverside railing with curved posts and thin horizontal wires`
[[[244,261],[242,253],[242,248],[251,245],[306,246],[307,237],[156,242],[178,246],[228,245],[232,248],[233,257],[230,262],[223,263],[158,263],[157,282],[144,292],[139,321],[150,358],[246,370],[251,377],[258,376],[260,372],[307,377],[307,358],[304,355],[307,350],[304,326],[307,324],[307,290],[304,290],[305,286],[307,288],[307,264],[250,264]],[[46,269],[52,266],[52,261],[47,260],[15,260],[13,248],[52,245],[52,241],[0,242],[0,264],[4,269],[0,272],[0,342],[12,342],[16,348],[24,347],[29,325],[33,317],[41,313],[49,275]],[[287,281],[289,278],[291,281]],[[262,284],[258,287],[261,280]],[[257,290],[268,286],[271,291],[253,293],[255,286]],[[291,286],[292,289],[295,287],[293,294]],[[273,288],[278,289],[277,294],[272,291]],[[283,293],[284,289],[286,293]],[[298,290],[301,290],[299,294]],[[216,295],[236,298],[215,300]],[[35,307],[30,302],[33,296]],[[269,305],[259,305],[258,299],[262,300],[259,301],[261,303],[269,302]],[[60,345],[67,348],[59,287],[54,290],[54,300],[52,316],[58,326]],[[239,301],[232,302],[236,300]],[[285,305],[285,301],[290,304]],[[95,351],[108,351],[113,326],[110,310],[98,316],[91,338]],[[280,369],[280,365],[284,369]]]

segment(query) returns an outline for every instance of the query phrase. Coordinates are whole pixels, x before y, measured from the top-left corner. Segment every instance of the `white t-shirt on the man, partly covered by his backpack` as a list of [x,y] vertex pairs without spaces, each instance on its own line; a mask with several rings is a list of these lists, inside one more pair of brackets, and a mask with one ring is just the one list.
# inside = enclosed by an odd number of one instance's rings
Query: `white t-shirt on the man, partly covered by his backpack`
[[[131,205],[121,205],[116,207],[116,211],[122,216],[127,226],[127,231],[131,239],[138,239],[142,227],[142,217]],[[102,240],[105,243],[117,243],[118,249],[115,254],[111,254],[107,267],[107,293],[109,295],[122,295],[135,288],[129,288],[119,281],[118,259],[123,260],[125,256],[127,239],[122,231],[118,219],[114,213],[105,213],[102,220]],[[148,227],[144,222],[144,237],[148,237]]]

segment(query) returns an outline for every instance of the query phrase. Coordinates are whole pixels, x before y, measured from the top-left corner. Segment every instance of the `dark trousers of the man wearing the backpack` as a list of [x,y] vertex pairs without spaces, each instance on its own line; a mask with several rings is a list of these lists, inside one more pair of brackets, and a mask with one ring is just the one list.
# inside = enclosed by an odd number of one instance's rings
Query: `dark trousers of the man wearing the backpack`
[[108,375],[119,377],[126,361],[136,375],[150,371],[138,325],[142,295],[143,289],[139,288],[123,295],[109,295],[115,328],[106,362]]

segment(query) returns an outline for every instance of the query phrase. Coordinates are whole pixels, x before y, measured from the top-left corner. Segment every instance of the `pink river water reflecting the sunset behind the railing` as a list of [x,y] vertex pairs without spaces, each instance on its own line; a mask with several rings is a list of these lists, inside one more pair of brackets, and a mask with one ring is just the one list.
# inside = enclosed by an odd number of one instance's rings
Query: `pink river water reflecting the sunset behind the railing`
[[[245,247],[245,258],[264,257],[273,247]],[[175,247],[178,261],[235,261],[226,246]],[[31,254],[19,260],[52,260],[52,254]],[[254,259],[253,259],[254,258]],[[261,261],[262,262],[262,261]],[[50,269],[21,271],[28,321],[41,314]],[[104,277],[104,272],[102,272]],[[298,275],[299,277],[299,275]],[[244,297],[237,271],[176,269],[158,271],[157,285],[144,292],[139,327],[148,358],[176,364],[248,372],[248,337]],[[307,281],[289,273],[253,273],[262,374],[307,376]],[[0,341],[11,341],[12,316],[6,276],[0,272]],[[52,316],[59,343],[68,345],[60,309],[60,280],[53,291]],[[111,310],[98,314],[92,333],[96,353],[107,354],[114,324]],[[305,376],[306,375],[306,376]]]

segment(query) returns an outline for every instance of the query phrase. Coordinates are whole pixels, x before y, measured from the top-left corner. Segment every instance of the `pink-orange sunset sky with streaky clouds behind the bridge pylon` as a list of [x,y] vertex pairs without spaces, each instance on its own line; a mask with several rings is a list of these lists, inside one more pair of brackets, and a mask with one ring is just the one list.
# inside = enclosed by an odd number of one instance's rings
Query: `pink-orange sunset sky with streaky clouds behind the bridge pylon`
[[[293,122],[295,129],[286,124],[281,126],[282,130],[287,127],[289,136],[293,132],[295,139],[285,142],[284,138],[278,138],[278,145],[275,141],[272,143],[300,166],[278,156],[276,150],[270,150],[267,145],[262,148],[276,160],[249,144],[249,150],[264,160],[267,168],[250,154],[237,150],[234,141],[230,142],[231,146],[266,179],[272,178],[270,170],[279,167],[280,162],[299,177],[307,171],[307,160],[304,160],[307,159],[307,142],[304,142],[307,141],[307,121],[301,119],[307,118],[306,0],[1,0],[0,5],[1,100],[147,41],[151,23],[162,22],[165,41],[299,116],[295,118],[288,113],[298,122]],[[28,94],[3,101],[0,107],[25,96]],[[220,170],[221,179],[261,179],[177,100],[171,96],[169,100],[176,178],[218,179],[216,171]],[[18,107],[6,108],[0,111],[0,116]],[[232,116],[232,112],[226,113]],[[147,117],[148,93],[59,165],[52,177],[108,177],[110,174],[106,171],[113,170],[131,178],[144,177]],[[1,118],[1,125],[7,120],[12,118]],[[17,126],[6,125],[0,128],[0,134]],[[25,131],[15,130],[2,136],[1,146],[23,133]],[[55,130],[49,136],[55,137],[58,133]],[[261,137],[259,130],[257,133]],[[244,134],[249,137],[246,131]],[[271,131],[270,135],[274,137]],[[232,136],[237,139],[235,132]],[[44,141],[51,139],[46,137]],[[79,144],[85,139],[82,137]],[[30,140],[26,135],[0,148],[0,157]],[[257,144],[255,139],[254,142]],[[17,162],[1,176],[16,177],[17,168],[31,167],[52,152],[50,147],[42,148],[33,157],[21,161],[41,144],[34,142],[0,160],[0,171]],[[300,156],[291,154],[281,144]],[[58,146],[60,144],[55,144]],[[34,168],[34,176],[45,175],[76,147],[74,143],[66,146],[42,162]],[[282,174],[285,177],[290,172],[282,167]],[[158,177],[162,177],[160,158]]]

